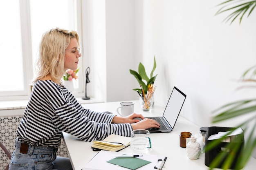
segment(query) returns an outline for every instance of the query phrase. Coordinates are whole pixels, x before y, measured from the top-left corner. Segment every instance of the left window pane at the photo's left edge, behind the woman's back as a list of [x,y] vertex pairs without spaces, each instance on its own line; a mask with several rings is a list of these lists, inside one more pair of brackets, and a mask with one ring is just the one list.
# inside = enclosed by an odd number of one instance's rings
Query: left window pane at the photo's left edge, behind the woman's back
[[[20,64],[23,59],[19,0],[8,0],[2,3],[4,5],[0,6],[0,15],[1,23],[4,23],[4,26],[0,27],[2,34],[0,67],[3,77],[1,78],[0,91],[3,95],[7,95],[7,92],[11,91],[21,95],[21,91],[24,91],[25,87],[24,75],[17,74],[23,72],[23,64]],[[11,7],[12,10],[7,7]]]

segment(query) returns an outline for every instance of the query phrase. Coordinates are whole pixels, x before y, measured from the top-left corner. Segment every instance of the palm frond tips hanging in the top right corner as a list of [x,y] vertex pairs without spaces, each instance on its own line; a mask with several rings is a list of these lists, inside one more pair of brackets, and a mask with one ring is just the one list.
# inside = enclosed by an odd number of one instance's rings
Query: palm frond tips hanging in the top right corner
[[247,13],[247,17],[249,17],[256,7],[256,0],[226,0],[217,6],[221,6],[221,8],[217,11],[216,15],[231,11],[224,19],[225,22],[230,21],[230,24],[232,24],[234,20],[239,19],[239,23],[241,24],[244,15]]

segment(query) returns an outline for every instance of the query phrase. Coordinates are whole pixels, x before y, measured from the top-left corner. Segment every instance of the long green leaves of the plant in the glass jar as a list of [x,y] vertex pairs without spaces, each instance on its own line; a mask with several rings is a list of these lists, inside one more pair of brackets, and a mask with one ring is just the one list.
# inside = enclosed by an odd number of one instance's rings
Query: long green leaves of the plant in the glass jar
[[137,81],[139,83],[139,86],[141,87],[141,88],[134,88],[132,90],[138,91],[140,94],[142,94],[142,89],[143,89],[144,93],[147,94],[148,87],[151,84],[154,84],[155,79],[157,77],[157,75],[153,76],[153,73],[154,73],[156,67],[157,67],[157,64],[156,64],[155,56],[154,56],[154,66],[150,73],[150,77],[148,77],[148,75],[146,74],[145,67],[143,64],[141,64],[141,62],[139,63],[139,68],[138,68],[139,73],[137,71],[130,69],[130,73],[132,75],[134,75],[134,77],[137,79]]

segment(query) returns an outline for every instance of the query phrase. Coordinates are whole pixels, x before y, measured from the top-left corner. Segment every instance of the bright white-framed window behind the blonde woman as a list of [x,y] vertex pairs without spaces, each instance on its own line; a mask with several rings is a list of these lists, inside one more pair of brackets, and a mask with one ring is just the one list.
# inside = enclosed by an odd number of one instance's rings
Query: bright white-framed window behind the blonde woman
[[[55,27],[77,30],[76,0],[8,0],[1,4],[0,15],[4,26],[0,27],[0,97],[27,98],[42,34]],[[83,77],[83,73],[79,73]],[[82,81],[77,82],[75,88],[76,92],[82,92]]]

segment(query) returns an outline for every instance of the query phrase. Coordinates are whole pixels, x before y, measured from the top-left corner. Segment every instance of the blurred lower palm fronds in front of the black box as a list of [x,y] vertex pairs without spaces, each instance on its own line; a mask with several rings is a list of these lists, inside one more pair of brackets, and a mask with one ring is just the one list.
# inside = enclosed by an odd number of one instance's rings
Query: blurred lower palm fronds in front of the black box
[[[249,75],[249,77],[248,77]],[[252,82],[256,83],[256,66],[253,66],[249,68],[241,77],[241,81],[244,83]],[[246,87],[256,87],[256,86],[242,86],[243,88]],[[221,106],[220,108],[213,111],[213,113],[217,113],[216,116],[213,117],[212,122],[220,122],[232,119],[234,117],[240,117],[240,116],[248,116],[248,118],[243,121],[241,124],[239,124],[236,128],[242,128],[244,133],[247,133],[247,138],[245,140],[244,144],[244,151],[243,155],[239,157],[239,159],[236,161],[236,169],[240,169],[239,167],[244,167],[246,163],[249,161],[253,150],[256,148],[256,137],[254,130],[256,129],[256,99],[244,99],[237,102],[231,102],[229,104],[226,104],[224,106]],[[235,129],[236,129],[235,128]],[[234,129],[234,130],[235,130]],[[233,132],[233,130],[231,130]],[[222,137],[224,139],[226,136]],[[213,147],[218,146],[220,144],[220,141],[222,139],[216,140],[215,142],[212,142],[210,146],[206,146],[205,152],[210,150]],[[240,140],[240,139],[238,139]],[[224,163],[222,164],[222,169],[227,170],[230,168],[232,162],[234,162],[234,155],[236,155],[236,152],[238,152],[238,148],[243,145],[240,142],[231,142],[229,145],[227,145],[227,148],[232,150],[232,154],[227,155],[226,152],[221,152],[216,159],[214,159],[211,163],[210,167],[216,167],[218,166],[218,163],[220,161],[224,160]],[[210,169],[213,169],[210,168]]]

